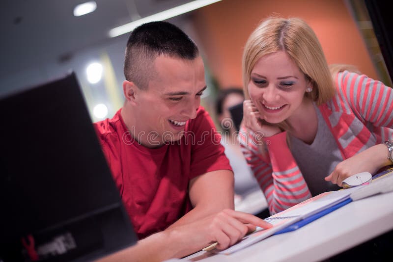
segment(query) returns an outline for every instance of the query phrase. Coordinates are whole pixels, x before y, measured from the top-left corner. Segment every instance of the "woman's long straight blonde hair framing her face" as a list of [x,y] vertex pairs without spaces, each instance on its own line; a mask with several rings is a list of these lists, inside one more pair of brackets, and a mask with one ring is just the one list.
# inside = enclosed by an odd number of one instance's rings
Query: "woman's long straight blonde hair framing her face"
[[326,103],[336,94],[322,47],[311,27],[299,18],[270,17],[251,33],[243,52],[243,87],[250,99],[248,84],[255,63],[267,54],[284,51],[299,66],[313,85],[305,93],[317,105]]

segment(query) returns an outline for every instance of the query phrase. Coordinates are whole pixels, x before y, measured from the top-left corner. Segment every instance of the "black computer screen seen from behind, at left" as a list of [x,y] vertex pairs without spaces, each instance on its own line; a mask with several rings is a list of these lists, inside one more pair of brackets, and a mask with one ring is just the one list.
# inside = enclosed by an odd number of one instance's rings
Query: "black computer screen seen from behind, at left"
[[0,261],[87,261],[137,241],[74,73],[0,98]]

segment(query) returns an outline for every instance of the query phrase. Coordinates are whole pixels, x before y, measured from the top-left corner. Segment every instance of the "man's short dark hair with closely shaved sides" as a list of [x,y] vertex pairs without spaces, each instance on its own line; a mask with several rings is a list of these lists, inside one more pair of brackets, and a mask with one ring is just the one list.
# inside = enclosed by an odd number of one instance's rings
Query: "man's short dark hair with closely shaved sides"
[[128,38],[124,77],[140,89],[154,76],[154,59],[159,55],[195,59],[198,48],[180,28],[168,22],[150,22],[135,28]]

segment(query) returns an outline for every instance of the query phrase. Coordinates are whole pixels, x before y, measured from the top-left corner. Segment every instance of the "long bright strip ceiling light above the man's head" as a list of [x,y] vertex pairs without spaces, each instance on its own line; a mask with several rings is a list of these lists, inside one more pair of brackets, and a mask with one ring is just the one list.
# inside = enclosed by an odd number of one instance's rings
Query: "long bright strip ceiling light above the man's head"
[[135,27],[140,26],[144,23],[148,23],[148,22],[152,22],[152,21],[163,21],[163,20],[167,20],[169,18],[190,12],[192,10],[198,9],[200,7],[218,2],[221,0],[195,0],[189,3],[185,3],[173,8],[170,8],[168,10],[162,11],[160,13],[151,15],[151,16],[147,16],[144,18],[141,18],[137,21],[122,25],[122,26],[117,26],[115,28],[112,28],[111,30],[109,30],[109,36],[110,37],[116,37],[128,32],[131,32],[132,30],[134,30]]

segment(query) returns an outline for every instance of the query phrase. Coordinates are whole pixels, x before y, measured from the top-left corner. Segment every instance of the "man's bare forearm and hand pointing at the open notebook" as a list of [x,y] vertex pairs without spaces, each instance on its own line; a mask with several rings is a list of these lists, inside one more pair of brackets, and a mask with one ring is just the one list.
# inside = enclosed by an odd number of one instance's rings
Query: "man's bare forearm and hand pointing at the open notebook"
[[234,210],[198,219],[195,222],[167,229],[148,236],[138,244],[98,262],[158,262],[170,258],[182,258],[213,242],[218,242],[218,249],[225,249],[239,241],[247,233],[253,232],[255,226],[270,228],[271,224],[252,214]]

